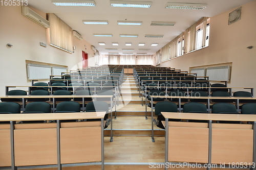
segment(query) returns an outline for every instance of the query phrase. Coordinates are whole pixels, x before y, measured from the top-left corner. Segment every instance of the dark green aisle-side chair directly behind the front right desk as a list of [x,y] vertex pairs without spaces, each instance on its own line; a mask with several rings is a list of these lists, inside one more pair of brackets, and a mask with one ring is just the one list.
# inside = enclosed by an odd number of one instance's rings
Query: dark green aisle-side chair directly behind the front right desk
[[[156,120],[156,125],[157,127],[161,129],[165,129],[162,121],[165,121],[164,116],[161,114],[161,112],[177,112],[178,111],[178,106],[175,103],[172,102],[158,102],[155,105],[155,115],[157,115],[157,120]],[[179,122],[180,119],[168,119],[169,121],[173,122]]]

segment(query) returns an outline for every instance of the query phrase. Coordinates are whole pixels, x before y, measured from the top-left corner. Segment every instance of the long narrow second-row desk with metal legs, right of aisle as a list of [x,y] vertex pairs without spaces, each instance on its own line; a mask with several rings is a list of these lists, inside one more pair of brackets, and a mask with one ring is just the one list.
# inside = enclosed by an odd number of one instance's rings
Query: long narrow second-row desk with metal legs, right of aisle
[[[237,104],[237,111],[239,111],[239,100],[243,100],[243,99],[250,99],[250,100],[256,100],[256,97],[233,97],[233,96],[229,96],[229,97],[217,97],[217,96],[162,96],[165,99],[172,99],[172,98],[178,98],[179,99],[179,107],[178,107],[178,111],[181,112],[181,99],[207,99],[207,110],[210,113],[210,100],[211,99],[232,99],[232,100],[236,100],[236,104]],[[153,98],[159,98],[158,95],[152,95],[151,96],[151,127],[152,127],[152,142],[155,142],[154,139],[154,118],[153,118]],[[246,121],[246,120],[241,120],[241,121]],[[249,121],[249,120],[248,120]]]

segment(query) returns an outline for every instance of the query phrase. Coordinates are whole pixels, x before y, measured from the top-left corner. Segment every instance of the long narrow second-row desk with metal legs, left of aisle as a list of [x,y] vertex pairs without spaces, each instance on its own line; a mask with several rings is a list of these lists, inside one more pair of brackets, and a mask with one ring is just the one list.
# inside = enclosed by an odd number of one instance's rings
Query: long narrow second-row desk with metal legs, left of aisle
[[[56,98],[82,98],[82,111],[84,112],[84,98],[110,98],[110,129],[111,129],[111,137],[110,141],[113,141],[113,128],[112,128],[112,107],[113,107],[113,96],[112,95],[3,95],[0,98],[22,98],[23,100],[23,110],[25,110],[25,99],[29,98],[50,98],[53,99],[53,111],[55,110],[55,99]],[[116,104],[115,104],[115,116],[116,116]]]

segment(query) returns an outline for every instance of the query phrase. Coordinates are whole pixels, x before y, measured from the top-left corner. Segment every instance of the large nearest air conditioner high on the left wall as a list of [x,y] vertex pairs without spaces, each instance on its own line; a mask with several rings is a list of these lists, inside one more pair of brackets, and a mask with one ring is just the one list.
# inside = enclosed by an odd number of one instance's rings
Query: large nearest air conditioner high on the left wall
[[33,11],[27,6],[22,6],[22,14],[44,28],[50,27],[50,23],[48,20],[38,15],[35,11]]

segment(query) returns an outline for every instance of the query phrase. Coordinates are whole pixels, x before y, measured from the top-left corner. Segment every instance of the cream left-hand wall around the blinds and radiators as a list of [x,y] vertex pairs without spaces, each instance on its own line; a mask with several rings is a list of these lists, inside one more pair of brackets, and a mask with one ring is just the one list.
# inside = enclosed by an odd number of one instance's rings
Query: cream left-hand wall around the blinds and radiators
[[[33,10],[46,17],[45,13]],[[40,42],[47,43],[47,47],[40,46]],[[13,46],[8,47],[7,43]],[[27,81],[26,60],[66,65],[70,70],[82,67],[82,51],[93,57],[91,45],[85,40],[73,37],[73,46],[73,54],[51,46],[49,29],[23,16],[21,6],[0,6],[0,95],[5,95],[5,86],[31,85]],[[94,58],[89,59],[89,66],[94,65]]]

